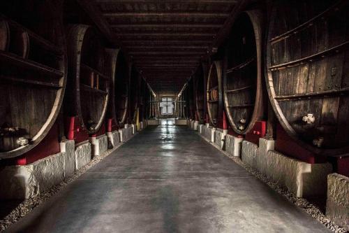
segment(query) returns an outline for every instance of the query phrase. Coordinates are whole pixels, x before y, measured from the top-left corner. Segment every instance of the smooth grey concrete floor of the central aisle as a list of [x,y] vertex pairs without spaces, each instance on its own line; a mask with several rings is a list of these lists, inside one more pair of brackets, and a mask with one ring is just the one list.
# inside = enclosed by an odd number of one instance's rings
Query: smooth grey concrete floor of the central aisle
[[329,232],[187,127],[148,127],[9,232]]

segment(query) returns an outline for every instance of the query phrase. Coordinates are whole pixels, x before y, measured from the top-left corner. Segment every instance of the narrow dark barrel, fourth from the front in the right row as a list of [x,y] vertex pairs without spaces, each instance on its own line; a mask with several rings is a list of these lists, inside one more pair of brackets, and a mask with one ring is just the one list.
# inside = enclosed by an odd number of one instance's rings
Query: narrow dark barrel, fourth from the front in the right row
[[202,64],[198,67],[194,73],[195,80],[195,104],[196,104],[196,114],[198,115],[198,120],[205,120],[205,73]]

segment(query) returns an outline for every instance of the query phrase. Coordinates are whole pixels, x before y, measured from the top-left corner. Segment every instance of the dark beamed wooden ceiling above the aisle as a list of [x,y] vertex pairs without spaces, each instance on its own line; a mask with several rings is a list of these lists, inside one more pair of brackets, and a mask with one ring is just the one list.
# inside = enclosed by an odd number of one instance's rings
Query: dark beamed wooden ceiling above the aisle
[[241,2],[80,0],[107,38],[121,46],[152,89],[162,94],[179,93],[226,34]]

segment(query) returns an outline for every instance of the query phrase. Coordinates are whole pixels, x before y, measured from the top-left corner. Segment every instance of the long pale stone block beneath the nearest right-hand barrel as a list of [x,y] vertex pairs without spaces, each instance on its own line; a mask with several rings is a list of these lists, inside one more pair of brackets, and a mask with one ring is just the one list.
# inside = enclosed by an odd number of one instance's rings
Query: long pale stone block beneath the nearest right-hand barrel
[[308,164],[269,150],[265,157],[267,177],[279,183],[297,197],[325,195],[327,175],[332,172],[332,165]]

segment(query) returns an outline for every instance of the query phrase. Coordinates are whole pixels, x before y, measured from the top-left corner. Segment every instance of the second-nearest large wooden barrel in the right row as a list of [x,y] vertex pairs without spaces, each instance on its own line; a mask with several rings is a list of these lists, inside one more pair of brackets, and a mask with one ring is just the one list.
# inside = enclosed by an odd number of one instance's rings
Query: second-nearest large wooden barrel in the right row
[[249,132],[262,118],[262,14],[242,13],[225,50],[225,113],[237,134]]

